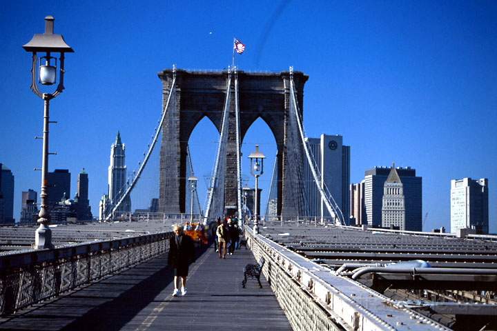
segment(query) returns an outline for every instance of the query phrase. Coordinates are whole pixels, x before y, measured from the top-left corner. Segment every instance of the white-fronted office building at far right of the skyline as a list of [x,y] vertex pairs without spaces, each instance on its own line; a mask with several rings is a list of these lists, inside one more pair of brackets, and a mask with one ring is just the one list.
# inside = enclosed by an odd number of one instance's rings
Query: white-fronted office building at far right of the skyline
[[451,180],[451,232],[474,228],[489,232],[488,179]]

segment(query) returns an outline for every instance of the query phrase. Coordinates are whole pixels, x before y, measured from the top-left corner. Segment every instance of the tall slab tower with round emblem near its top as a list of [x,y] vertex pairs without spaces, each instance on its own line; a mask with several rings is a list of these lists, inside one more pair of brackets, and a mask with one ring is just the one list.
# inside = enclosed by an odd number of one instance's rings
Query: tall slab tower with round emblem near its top
[[[343,145],[340,135],[321,134],[320,138],[308,138],[311,154],[318,165],[321,178],[319,185],[329,191],[345,221],[349,218],[350,146]],[[304,158],[304,196],[309,207],[309,216],[329,217],[318,186]]]

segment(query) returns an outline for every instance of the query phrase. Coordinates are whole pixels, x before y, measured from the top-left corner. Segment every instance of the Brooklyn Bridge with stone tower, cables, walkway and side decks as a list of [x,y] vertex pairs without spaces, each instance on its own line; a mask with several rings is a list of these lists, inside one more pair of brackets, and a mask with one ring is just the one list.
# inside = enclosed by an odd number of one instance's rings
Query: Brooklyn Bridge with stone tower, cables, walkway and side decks
[[[159,72],[163,108],[153,141],[100,222],[52,227],[37,247],[32,228],[0,229],[0,329],[496,330],[497,237],[348,224],[306,139],[307,78],[291,67]],[[200,208],[189,186],[188,139],[204,117],[219,141]],[[277,144],[275,212],[266,215],[257,211],[257,186],[247,210],[241,178],[240,146],[259,118]],[[154,151],[158,212],[124,212]],[[264,155],[249,157],[257,180]],[[304,165],[320,217],[309,214]],[[212,243],[224,217],[238,220],[245,245],[218,259]],[[166,260],[174,224],[193,227],[196,241],[184,297],[172,295]],[[257,272],[242,284],[247,264],[260,271],[262,287]]]

